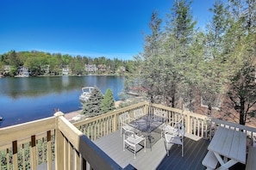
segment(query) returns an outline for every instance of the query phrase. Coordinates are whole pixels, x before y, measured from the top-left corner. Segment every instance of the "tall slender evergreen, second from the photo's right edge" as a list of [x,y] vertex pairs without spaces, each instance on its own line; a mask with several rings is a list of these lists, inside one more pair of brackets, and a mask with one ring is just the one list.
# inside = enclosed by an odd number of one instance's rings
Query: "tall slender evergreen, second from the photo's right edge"
[[223,39],[227,33],[227,9],[221,1],[215,1],[212,9],[212,20],[207,25],[207,33],[202,42],[203,58],[200,62],[200,81],[198,81],[198,94],[203,104],[208,106],[208,114],[211,115],[212,107],[223,93],[223,85],[226,81],[226,61],[223,54]]

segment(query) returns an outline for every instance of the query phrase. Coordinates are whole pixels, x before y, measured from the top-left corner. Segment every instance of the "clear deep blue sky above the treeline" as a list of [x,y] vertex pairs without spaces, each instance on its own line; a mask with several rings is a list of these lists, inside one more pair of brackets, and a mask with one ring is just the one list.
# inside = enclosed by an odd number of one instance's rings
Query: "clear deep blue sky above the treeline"
[[[143,52],[153,10],[170,14],[174,0],[3,0],[0,54],[41,51],[91,58],[133,59]],[[215,0],[194,0],[198,27]]]

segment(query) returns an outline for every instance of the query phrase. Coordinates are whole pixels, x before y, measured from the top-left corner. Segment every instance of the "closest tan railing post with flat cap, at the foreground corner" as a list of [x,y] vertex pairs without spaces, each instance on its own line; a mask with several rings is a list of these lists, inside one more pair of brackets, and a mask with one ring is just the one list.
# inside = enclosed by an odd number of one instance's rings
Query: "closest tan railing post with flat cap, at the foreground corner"
[[64,169],[64,137],[59,131],[59,117],[63,112],[55,112],[55,169]]

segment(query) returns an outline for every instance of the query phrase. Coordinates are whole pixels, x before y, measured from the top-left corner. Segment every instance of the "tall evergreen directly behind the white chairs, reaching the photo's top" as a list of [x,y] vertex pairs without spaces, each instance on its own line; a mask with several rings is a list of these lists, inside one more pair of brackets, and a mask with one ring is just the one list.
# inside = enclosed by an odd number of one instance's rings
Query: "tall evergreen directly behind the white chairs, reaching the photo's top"
[[[191,1],[177,0],[173,3],[171,14],[167,14],[164,39],[165,73],[162,83],[165,88],[166,104],[176,107],[178,100],[184,100],[184,89],[191,91],[186,82],[190,77],[185,76],[187,64],[193,61],[190,55],[190,46],[194,39],[194,28],[197,21],[193,20],[190,8]],[[196,60],[195,60],[196,61]],[[187,79],[187,80],[186,80]],[[192,87],[191,87],[192,88]]]

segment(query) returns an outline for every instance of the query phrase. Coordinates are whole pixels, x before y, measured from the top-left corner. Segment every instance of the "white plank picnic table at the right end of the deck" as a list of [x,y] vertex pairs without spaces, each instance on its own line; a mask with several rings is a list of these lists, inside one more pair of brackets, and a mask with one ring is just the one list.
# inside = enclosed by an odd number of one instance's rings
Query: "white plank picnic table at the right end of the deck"
[[218,169],[228,169],[235,163],[246,164],[247,136],[242,131],[219,127],[208,146],[221,164]]

